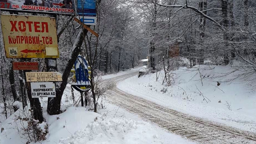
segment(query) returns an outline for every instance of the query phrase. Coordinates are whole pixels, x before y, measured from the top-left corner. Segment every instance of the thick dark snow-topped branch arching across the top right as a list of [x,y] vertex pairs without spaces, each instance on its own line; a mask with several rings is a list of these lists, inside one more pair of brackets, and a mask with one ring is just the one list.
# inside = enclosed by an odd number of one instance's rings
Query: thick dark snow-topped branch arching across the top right
[[[183,9],[191,9],[191,10],[197,12],[198,14],[200,14],[201,16],[206,17],[208,20],[216,23],[217,26],[219,26],[222,30],[225,30],[217,21],[215,21],[213,18],[211,18],[211,17],[209,17],[209,16],[207,16],[206,14],[203,13],[204,11],[207,11],[207,10],[200,11],[196,7],[189,6],[187,4],[186,5],[162,5],[162,4],[159,4],[157,2],[153,2],[153,3],[155,3],[155,4],[159,5],[159,6],[163,6],[163,7],[173,7],[173,8],[183,7]],[[213,9],[217,9],[217,8],[212,8],[212,10]],[[211,9],[209,9],[209,10],[211,10]]]

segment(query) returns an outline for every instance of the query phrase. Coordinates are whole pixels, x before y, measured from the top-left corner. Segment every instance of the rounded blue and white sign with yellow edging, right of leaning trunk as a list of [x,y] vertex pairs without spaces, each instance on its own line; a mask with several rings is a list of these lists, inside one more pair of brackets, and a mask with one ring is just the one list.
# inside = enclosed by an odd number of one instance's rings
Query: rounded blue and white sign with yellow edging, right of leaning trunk
[[78,55],[78,58],[75,61],[75,79],[76,83],[73,83],[72,86],[78,91],[85,91],[86,88],[90,87],[89,71],[88,64],[81,55]]

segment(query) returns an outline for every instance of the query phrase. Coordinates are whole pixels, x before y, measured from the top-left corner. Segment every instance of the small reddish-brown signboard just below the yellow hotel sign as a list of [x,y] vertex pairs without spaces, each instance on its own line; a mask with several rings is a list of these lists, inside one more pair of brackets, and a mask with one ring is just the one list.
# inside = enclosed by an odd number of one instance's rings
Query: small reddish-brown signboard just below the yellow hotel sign
[[38,62],[12,62],[13,70],[38,70]]

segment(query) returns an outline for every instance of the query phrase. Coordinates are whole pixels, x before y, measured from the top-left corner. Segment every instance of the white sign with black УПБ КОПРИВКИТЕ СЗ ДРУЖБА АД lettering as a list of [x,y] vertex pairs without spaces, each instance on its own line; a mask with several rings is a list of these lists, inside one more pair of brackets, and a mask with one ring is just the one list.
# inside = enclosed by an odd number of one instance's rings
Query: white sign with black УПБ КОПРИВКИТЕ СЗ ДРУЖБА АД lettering
[[32,98],[56,97],[55,85],[53,82],[31,82]]

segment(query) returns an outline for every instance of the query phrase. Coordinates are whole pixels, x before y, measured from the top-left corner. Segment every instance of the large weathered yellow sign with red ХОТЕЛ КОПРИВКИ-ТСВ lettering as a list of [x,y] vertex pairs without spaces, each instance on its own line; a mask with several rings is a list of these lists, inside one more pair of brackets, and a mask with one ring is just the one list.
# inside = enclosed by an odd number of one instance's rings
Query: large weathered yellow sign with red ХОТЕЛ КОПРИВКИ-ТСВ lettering
[[58,58],[56,20],[52,17],[1,15],[6,58]]

